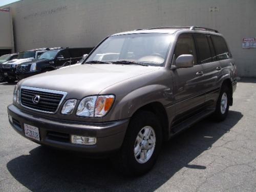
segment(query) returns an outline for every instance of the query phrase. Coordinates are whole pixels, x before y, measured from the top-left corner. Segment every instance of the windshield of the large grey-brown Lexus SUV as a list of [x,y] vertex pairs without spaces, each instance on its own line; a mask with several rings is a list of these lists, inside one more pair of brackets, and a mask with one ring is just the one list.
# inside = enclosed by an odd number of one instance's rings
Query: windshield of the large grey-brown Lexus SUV
[[163,66],[171,37],[170,34],[162,33],[111,36],[102,42],[86,62],[133,61],[150,66]]

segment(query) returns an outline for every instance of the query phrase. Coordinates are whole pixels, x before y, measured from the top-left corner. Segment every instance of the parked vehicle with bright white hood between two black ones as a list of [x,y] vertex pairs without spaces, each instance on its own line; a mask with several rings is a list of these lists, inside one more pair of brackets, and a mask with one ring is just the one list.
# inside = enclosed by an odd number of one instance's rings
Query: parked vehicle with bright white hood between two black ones
[[16,78],[16,68],[18,65],[32,61],[35,58],[39,57],[42,53],[50,50],[49,48],[39,48],[32,49],[29,51],[20,52],[16,59],[6,61],[2,64],[2,76],[5,77],[5,80],[8,82],[14,82]]

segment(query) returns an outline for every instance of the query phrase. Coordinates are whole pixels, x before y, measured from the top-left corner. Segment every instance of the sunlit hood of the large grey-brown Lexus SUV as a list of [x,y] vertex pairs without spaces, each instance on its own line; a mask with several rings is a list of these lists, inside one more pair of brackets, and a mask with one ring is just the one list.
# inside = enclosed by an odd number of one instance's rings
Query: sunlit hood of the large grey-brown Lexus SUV
[[81,99],[79,95],[97,95],[106,87],[159,69],[137,65],[77,65],[26,78],[20,81],[20,86],[65,91],[68,97]]

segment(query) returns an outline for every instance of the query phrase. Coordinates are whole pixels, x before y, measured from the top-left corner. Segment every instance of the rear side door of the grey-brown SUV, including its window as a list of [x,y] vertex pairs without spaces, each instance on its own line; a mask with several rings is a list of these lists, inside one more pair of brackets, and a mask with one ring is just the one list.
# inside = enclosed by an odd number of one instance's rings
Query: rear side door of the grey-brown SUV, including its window
[[211,104],[219,93],[217,82],[221,70],[220,61],[216,58],[215,49],[209,35],[195,33],[194,37],[198,50],[198,62],[204,72],[205,101]]

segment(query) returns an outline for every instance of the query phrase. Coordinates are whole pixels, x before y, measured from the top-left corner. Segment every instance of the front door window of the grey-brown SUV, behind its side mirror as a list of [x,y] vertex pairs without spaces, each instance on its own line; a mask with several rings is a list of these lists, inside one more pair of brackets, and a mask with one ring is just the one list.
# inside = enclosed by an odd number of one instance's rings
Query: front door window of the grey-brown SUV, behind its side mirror
[[177,40],[174,55],[175,59],[183,54],[194,56],[194,65],[197,63],[197,54],[193,36],[191,34],[181,34]]

